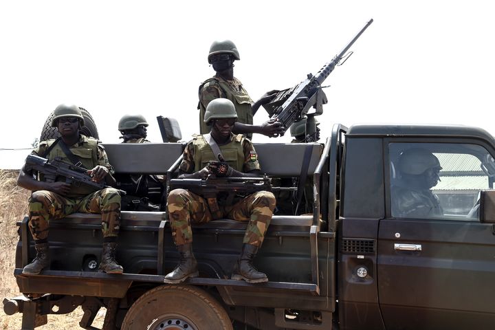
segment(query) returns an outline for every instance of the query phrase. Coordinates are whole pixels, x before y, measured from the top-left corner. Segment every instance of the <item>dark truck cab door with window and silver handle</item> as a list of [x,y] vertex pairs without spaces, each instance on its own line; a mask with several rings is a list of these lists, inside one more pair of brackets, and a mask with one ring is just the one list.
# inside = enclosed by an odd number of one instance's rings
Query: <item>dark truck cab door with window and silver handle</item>
[[386,329],[494,329],[495,226],[476,204],[494,188],[489,147],[396,141],[377,243]]

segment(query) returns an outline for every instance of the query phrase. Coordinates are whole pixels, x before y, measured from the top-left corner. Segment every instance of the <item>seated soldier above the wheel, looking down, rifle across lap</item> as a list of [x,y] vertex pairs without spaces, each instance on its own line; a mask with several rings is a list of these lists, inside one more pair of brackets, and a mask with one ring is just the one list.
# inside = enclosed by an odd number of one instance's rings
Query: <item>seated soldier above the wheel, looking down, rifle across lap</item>
[[[206,179],[213,173],[218,175],[216,169],[219,166],[223,166],[227,176],[260,175],[258,156],[250,140],[243,135],[232,134],[237,118],[234,104],[230,100],[217,98],[208,104],[204,121],[211,126],[211,133],[196,135],[188,143],[179,167],[179,178]],[[217,148],[220,155],[225,156],[223,160],[226,162],[215,160],[213,150]],[[249,221],[241,256],[234,265],[232,279],[243,279],[249,283],[267,282],[266,274],[258,272],[253,267],[252,260],[263,243],[265,232],[272,220],[275,202],[272,192],[259,191],[234,200],[230,205],[225,205],[225,201],[219,199],[218,203],[214,203],[215,207],[212,207],[211,201],[189,190],[172,190],[168,195],[168,217],[181,259],[175,270],[165,276],[165,283],[180,283],[188,277],[198,276],[197,262],[192,254],[190,223],[207,223],[221,217]]]

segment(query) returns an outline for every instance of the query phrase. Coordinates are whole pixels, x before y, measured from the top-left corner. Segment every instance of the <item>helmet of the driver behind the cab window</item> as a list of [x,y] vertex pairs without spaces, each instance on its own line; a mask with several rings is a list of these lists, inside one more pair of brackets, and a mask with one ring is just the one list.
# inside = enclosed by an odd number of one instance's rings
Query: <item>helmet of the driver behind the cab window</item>
[[420,175],[429,168],[441,170],[437,156],[421,148],[413,148],[402,153],[399,160],[399,170],[401,173],[409,175]]

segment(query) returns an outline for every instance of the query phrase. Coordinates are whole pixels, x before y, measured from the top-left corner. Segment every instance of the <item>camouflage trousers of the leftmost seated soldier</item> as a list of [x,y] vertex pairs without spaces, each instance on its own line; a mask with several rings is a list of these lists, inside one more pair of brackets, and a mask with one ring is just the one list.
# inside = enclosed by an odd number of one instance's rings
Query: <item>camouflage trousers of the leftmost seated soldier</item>
[[35,240],[47,239],[50,219],[74,212],[101,213],[104,237],[116,237],[120,226],[120,193],[104,188],[85,197],[68,198],[47,190],[34,191],[29,199],[29,226]]

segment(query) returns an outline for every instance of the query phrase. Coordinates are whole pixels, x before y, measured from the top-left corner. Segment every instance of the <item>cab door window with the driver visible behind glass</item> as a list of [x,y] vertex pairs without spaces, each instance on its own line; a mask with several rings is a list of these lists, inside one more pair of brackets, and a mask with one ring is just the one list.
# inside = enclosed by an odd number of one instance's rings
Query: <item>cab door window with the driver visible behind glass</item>
[[494,188],[494,158],[476,144],[391,143],[391,215],[478,220],[480,190]]

